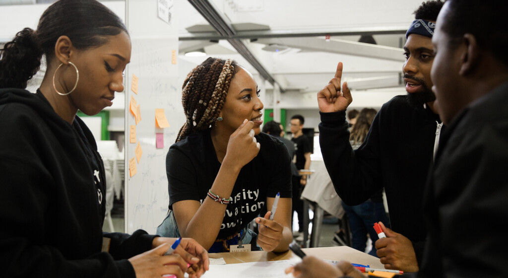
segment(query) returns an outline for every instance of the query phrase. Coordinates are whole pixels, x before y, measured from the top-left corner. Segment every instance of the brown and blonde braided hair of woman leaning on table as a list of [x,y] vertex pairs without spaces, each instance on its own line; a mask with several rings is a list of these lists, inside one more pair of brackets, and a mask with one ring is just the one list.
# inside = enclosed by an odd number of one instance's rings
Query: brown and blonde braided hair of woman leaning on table
[[224,107],[229,86],[239,67],[232,59],[208,58],[187,74],[182,85],[185,123],[176,142],[197,131],[205,130],[217,120]]

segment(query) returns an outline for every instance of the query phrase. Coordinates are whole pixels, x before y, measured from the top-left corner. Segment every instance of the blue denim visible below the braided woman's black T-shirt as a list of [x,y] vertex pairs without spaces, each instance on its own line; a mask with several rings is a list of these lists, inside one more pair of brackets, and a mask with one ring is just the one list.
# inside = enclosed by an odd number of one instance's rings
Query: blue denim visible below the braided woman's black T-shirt
[[[173,210],[170,210],[166,219],[157,227],[157,235],[163,237],[180,237],[180,231],[178,230],[178,225],[176,224],[175,215]],[[248,228],[243,228],[240,232],[240,237],[242,238],[243,244],[251,244],[251,251],[260,251],[261,247],[258,245],[258,234],[253,232]],[[238,237],[234,237],[232,239],[227,240],[228,248],[229,245],[238,244]],[[224,250],[223,242],[214,242],[208,253],[219,253],[219,252],[228,252]]]

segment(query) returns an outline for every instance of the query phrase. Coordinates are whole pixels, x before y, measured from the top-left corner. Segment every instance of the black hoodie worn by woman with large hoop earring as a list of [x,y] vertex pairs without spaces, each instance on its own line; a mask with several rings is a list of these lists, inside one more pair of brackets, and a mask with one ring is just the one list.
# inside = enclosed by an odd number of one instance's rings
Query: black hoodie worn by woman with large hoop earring
[[70,125],[40,91],[0,89],[0,134],[2,275],[135,277],[126,259],[155,236],[103,234],[104,165],[83,121]]

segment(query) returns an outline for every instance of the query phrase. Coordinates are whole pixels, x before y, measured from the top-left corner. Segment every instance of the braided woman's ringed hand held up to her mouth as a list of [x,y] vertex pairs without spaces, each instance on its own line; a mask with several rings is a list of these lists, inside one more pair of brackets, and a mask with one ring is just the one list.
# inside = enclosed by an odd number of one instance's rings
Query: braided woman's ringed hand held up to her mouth
[[241,168],[258,155],[261,146],[254,137],[253,127],[254,123],[245,119],[231,134],[224,161],[231,160]]

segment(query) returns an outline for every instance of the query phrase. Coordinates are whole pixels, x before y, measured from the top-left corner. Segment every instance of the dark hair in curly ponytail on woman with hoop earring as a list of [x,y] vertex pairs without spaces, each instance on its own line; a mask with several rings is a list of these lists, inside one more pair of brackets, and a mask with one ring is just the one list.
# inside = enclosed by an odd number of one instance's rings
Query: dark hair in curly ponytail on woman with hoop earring
[[99,47],[123,31],[121,19],[96,0],[58,0],[42,14],[37,30],[24,28],[0,49],[0,88],[25,88],[41,66],[49,65],[59,37],[67,36],[74,47]]

